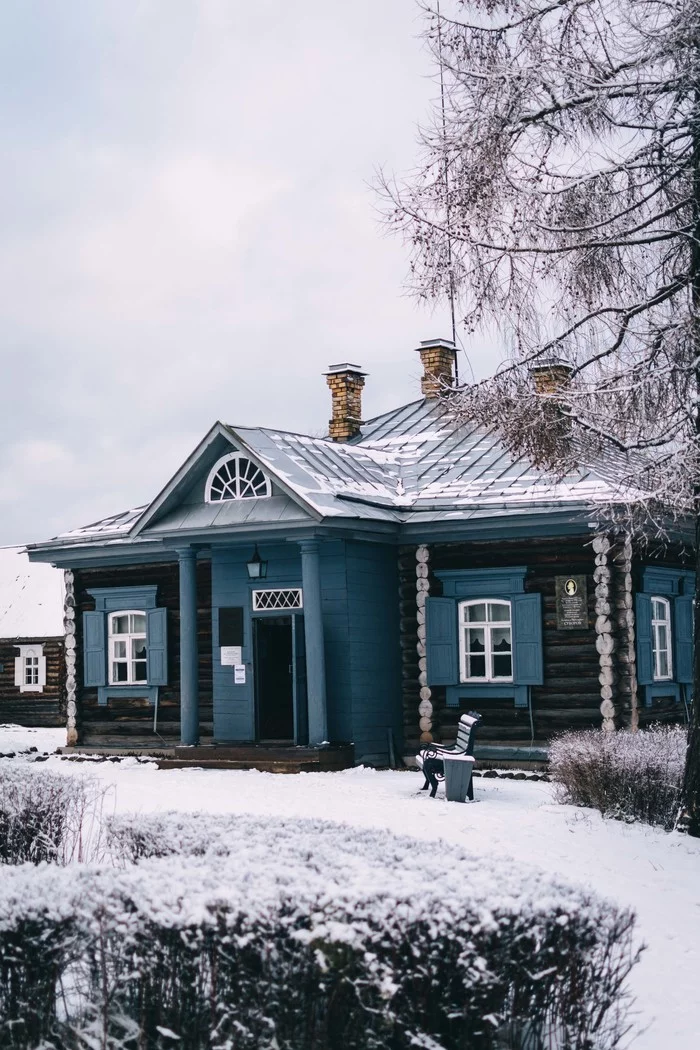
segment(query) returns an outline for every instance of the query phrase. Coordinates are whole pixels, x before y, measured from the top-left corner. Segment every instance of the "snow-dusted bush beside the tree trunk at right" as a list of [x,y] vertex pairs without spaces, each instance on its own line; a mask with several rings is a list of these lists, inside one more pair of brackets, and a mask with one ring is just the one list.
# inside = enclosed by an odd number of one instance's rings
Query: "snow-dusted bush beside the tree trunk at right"
[[638,733],[563,733],[549,752],[557,797],[593,806],[603,816],[671,830],[680,804],[686,744],[687,733],[680,726],[653,726]]

